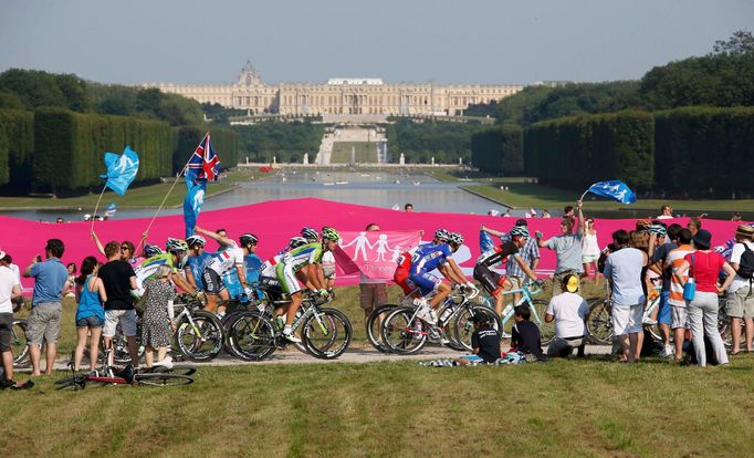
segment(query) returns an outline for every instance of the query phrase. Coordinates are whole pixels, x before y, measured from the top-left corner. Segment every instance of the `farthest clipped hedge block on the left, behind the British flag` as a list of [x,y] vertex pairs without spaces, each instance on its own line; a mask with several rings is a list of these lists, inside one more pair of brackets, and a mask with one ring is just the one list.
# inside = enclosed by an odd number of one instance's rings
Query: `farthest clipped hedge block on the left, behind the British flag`
[[[177,142],[172,153],[172,175],[179,173],[188,163],[208,129],[201,126],[181,126],[176,127],[175,132]],[[235,167],[240,156],[239,135],[229,128],[221,127],[210,128],[209,134],[212,148],[220,157],[220,168],[226,170]]]

